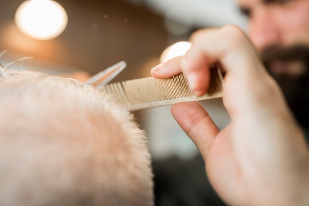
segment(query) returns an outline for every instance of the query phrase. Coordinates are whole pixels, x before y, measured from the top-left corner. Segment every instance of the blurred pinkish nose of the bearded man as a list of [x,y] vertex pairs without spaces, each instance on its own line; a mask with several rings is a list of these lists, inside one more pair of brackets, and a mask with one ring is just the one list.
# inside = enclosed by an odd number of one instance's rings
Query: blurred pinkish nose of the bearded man
[[255,12],[249,22],[249,37],[258,50],[280,43],[280,32],[267,10]]

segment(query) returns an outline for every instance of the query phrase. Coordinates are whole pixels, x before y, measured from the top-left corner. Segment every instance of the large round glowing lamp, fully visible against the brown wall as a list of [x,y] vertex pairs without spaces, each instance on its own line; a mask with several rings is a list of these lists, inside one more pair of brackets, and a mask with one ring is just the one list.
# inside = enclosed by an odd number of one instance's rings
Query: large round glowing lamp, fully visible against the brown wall
[[58,37],[68,24],[64,8],[53,0],[26,0],[17,9],[15,23],[22,33],[38,39]]

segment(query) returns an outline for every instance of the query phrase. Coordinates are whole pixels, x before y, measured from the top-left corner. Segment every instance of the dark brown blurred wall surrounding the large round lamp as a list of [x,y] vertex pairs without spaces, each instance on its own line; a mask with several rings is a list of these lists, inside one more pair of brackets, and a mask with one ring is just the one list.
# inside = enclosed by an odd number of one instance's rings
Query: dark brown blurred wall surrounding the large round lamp
[[115,81],[149,76],[167,45],[163,17],[120,0],[57,0],[67,11],[66,30],[56,39],[37,41],[15,26],[23,0],[0,0],[0,49],[60,63],[91,74],[124,60]]

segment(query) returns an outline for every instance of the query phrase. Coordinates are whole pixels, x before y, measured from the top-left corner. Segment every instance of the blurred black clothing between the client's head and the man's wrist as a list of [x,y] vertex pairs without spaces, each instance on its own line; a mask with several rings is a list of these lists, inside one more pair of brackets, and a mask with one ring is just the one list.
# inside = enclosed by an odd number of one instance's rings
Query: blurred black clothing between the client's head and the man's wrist
[[212,189],[201,156],[154,162],[155,206],[225,206]]

